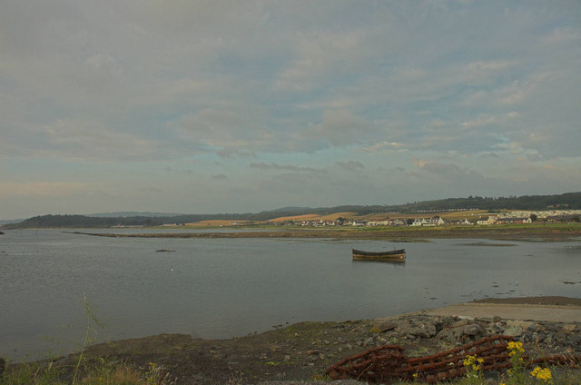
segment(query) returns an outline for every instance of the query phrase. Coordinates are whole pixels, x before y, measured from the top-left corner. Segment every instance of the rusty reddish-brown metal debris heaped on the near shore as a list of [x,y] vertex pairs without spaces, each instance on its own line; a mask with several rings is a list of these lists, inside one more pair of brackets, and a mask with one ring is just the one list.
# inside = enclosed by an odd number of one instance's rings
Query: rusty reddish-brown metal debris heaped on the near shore
[[[442,351],[425,357],[409,359],[404,348],[383,345],[366,350],[345,360],[340,360],[326,370],[333,380],[356,379],[386,383],[390,380],[422,380],[428,383],[449,380],[466,374],[464,360],[468,355],[482,359],[482,370],[505,370],[510,368],[507,343],[514,341],[510,336],[487,337],[456,349]],[[581,356],[550,356],[528,360],[528,365],[581,365]]]

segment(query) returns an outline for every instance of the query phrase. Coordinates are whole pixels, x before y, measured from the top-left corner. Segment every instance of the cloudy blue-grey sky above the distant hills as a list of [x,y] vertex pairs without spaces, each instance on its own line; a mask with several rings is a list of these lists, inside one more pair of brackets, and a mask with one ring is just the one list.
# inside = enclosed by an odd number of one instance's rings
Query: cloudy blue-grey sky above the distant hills
[[576,0],[0,9],[0,219],[581,191]]

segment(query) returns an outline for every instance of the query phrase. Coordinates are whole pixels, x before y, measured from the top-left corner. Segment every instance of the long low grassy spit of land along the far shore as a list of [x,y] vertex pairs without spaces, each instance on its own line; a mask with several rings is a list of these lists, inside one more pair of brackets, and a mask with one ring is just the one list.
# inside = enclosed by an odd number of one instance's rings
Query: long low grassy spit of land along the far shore
[[426,229],[349,229],[349,230],[287,230],[264,232],[154,232],[154,233],[114,233],[114,232],[71,232],[111,238],[330,238],[360,240],[402,240],[413,241],[429,238],[485,238],[493,240],[519,241],[562,241],[581,238],[581,227],[575,230],[547,228],[426,228]]

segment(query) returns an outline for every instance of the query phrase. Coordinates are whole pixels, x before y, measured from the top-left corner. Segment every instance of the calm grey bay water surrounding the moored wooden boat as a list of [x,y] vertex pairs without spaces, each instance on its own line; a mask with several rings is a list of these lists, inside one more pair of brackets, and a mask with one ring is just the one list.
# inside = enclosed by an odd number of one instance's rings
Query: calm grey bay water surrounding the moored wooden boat
[[[351,247],[405,247],[408,261],[352,262]],[[382,317],[492,296],[581,297],[581,240],[115,239],[10,231],[0,236],[0,356],[78,349],[84,294],[104,323],[98,341],[162,332],[229,338],[286,322]]]

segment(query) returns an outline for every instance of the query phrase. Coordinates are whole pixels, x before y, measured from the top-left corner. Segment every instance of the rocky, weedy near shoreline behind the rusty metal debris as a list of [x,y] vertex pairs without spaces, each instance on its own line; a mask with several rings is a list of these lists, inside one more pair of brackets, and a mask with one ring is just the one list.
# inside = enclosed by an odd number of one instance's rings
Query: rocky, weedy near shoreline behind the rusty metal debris
[[[562,297],[550,298],[553,302],[566,303]],[[523,302],[522,299],[515,300]],[[534,299],[531,301],[536,303]],[[570,299],[570,302],[576,301],[580,300]],[[577,307],[575,304],[571,306]],[[296,381],[324,377],[324,370],[330,365],[375,346],[396,344],[405,348],[409,357],[418,357],[497,334],[522,341],[532,358],[581,354],[581,320],[476,319],[457,315],[434,316],[426,311],[378,320],[279,325],[271,331],[229,340],[162,334],[95,345],[85,354],[88,358],[106,357],[140,367],[155,362],[166,368],[179,384],[303,383]],[[64,364],[67,361],[73,362],[74,356],[62,360]]]

